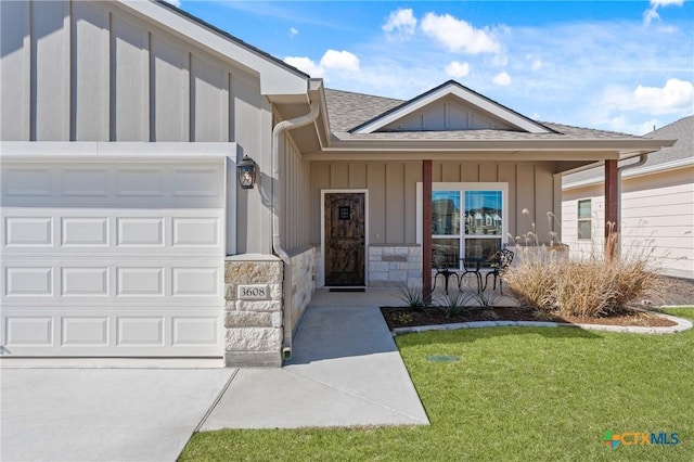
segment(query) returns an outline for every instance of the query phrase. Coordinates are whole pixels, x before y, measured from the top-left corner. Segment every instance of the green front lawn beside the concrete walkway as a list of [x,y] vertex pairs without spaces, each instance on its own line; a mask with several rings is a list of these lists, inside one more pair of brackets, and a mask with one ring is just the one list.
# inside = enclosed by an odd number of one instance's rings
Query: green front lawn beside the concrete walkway
[[[430,426],[201,433],[181,460],[694,461],[692,331],[496,328],[397,343]],[[680,442],[613,450],[605,431],[677,433]]]

